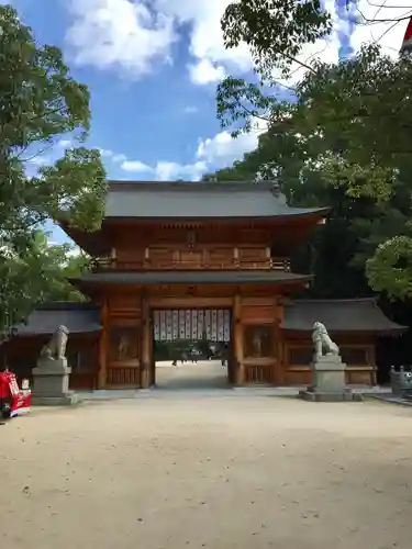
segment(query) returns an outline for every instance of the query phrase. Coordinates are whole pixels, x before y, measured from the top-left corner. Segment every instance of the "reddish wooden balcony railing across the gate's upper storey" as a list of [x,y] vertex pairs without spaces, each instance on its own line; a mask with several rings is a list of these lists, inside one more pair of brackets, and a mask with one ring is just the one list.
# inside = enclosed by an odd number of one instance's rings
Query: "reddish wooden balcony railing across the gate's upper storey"
[[97,258],[92,261],[92,272],[101,271],[145,271],[145,270],[275,270],[290,271],[290,260],[271,258],[265,260],[227,259],[226,261],[121,261]]

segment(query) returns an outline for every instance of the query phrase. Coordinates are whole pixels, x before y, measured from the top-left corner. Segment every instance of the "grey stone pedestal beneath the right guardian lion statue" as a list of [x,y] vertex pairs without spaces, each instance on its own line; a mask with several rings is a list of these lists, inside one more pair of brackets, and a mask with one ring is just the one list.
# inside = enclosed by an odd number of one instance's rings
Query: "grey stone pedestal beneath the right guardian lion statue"
[[361,401],[360,394],[346,386],[346,365],[336,355],[318,357],[312,365],[313,383],[300,396],[312,402]]

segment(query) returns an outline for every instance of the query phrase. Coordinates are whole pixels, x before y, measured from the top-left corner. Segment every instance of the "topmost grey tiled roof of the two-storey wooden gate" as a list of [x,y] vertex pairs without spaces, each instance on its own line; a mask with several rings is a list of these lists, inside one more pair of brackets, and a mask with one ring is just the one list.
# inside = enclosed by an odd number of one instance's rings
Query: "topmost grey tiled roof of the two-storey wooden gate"
[[327,213],[290,208],[270,181],[110,181],[107,219],[245,219]]

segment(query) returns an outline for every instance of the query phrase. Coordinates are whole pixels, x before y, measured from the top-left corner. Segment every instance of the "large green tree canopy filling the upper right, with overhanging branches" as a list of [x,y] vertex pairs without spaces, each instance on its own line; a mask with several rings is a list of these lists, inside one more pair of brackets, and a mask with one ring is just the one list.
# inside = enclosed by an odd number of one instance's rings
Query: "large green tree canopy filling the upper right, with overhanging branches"
[[[363,265],[374,290],[404,299],[412,295],[412,58],[392,59],[369,44],[336,64],[313,59],[293,94],[280,100],[275,71],[290,75],[302,47],[326,36],[330,23],[315,1],[245,0],[227,8],[225,44],[249,45],[259,81],[221,82],[218,116],[234,136],[256,122],[267,130],[258,148],[221,177],[237,178],[241,169],[278,178],[292,202],[305,204],[319,200],[321,189],[329,199],[341,197],[359,244],[352,261]],[[336,224],[342,212],[334,212]]]

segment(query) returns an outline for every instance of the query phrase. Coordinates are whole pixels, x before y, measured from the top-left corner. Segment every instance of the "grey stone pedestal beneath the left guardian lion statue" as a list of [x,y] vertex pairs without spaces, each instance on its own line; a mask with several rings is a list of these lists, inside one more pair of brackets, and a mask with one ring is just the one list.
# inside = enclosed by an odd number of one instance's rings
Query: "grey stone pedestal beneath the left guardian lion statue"
[[62,406],[76,404],[77,395],[69,391],[71,368],[66,358],[41,358],[33,369],[33,404],[40,406]]

